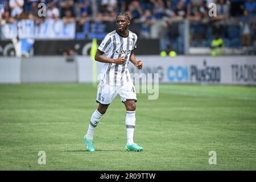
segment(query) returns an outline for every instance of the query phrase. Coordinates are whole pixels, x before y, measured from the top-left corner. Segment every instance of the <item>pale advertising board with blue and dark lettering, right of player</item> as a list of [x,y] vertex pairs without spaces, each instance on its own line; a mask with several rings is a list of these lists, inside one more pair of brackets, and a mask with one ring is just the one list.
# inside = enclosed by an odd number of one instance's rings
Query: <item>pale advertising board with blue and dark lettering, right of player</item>
[[159,73],[159,82],[256,85],[255,56],[138,56],[144,60],[141,71]]

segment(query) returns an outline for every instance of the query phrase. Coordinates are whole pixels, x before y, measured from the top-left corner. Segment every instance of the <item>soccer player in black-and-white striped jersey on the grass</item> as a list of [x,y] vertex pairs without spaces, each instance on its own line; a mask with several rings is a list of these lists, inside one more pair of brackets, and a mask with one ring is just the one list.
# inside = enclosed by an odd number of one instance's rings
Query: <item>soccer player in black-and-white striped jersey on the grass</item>
[[125,148],[127,151],[143,150],[133,141],[137,96],[128,69],[130,61],[138,69],[142,68],[142,61],[137,61],[133,52],[137,48],[138,37],[128,30],[130,17],[127,13],[118,13],[115,23],[117,30],[105,36],[95,55],[95,60],[104,65],[101,69],[101,81],[97,91],[98,109],[92,114],[88,131],[84,136],[86,148],[90,152],[95,150],[93,146],[94,130],[117,94],[126,107],[127,143]]

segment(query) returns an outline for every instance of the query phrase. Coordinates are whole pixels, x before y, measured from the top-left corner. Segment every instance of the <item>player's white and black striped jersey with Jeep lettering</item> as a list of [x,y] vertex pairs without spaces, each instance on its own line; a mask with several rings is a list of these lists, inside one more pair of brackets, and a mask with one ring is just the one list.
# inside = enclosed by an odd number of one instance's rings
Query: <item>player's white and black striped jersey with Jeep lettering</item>
[[125,63],[114,64],[104,63],[101,69],[101,80],[109,85],[123,85],[125,82],[130,81],[130,73],[128,64],[130,61],[131,51],[135,48],[137,42],[137,35],[129,31],[128,36],[123,37],[118,34],[116,30],[110,32],[102,40],[98,49],[104,52],[104,56],[117,59],[118,57],[125,56]]

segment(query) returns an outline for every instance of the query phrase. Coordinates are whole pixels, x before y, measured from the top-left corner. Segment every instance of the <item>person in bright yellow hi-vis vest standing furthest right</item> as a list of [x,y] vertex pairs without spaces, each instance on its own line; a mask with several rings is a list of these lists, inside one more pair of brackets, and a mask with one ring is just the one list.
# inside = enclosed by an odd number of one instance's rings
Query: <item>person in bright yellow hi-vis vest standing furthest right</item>
[[211,55],[220,55],[225,48],[224,41],[220,38],[220,32],[215,32],[215,38],[210,43],[210,48],[212,49]]

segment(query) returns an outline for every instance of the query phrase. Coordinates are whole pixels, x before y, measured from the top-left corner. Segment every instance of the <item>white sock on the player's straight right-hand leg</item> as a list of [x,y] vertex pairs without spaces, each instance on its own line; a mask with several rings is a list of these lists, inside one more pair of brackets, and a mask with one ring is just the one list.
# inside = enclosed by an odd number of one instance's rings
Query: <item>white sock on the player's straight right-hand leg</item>
[[134,135],[134,127],[135,127],[135,110],[134,111],[126,111],[126,132],[127,132],[127,145],[130,145],[133,142],[133,135]]

